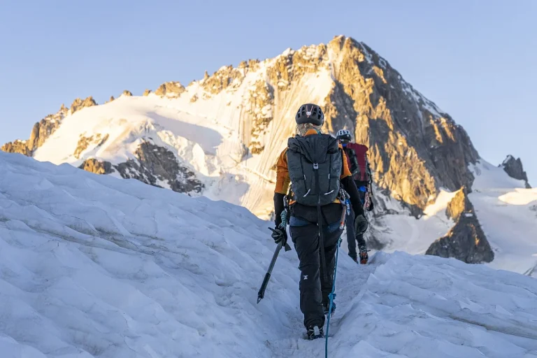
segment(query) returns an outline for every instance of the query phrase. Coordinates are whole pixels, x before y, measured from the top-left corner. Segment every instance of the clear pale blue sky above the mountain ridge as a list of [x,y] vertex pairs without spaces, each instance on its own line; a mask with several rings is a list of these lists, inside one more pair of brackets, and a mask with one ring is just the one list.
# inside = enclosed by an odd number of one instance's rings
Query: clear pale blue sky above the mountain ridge
[[0,143],[62,103],[161,83],[345,34],[452,115],[480,155],[537,185],[537,1],[3,1]]

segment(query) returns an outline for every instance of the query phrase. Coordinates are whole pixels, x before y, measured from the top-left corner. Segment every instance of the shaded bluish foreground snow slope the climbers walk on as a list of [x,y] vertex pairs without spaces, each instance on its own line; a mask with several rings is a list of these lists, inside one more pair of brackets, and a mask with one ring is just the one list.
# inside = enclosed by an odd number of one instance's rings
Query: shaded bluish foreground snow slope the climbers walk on
[[[0,352],[324,357],[298,262],[265,299],[269,223],[244,208],[0,152]],[[454,259],[341,255],[329,357],[537,357],[537,281]]]

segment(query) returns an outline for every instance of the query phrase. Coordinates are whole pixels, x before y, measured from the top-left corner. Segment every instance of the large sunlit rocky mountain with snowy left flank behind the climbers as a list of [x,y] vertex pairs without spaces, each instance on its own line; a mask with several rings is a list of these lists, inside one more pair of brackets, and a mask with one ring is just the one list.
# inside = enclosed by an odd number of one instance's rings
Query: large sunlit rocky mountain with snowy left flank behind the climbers
[[492,259],[464,194],[475,179],[469,168],[480,161],[468,134],[386,59],[350,37],[222,66],[186,87],[171,80],[101,106],[92,97],[77,99],[36,123],[28,140],[2,150],[227,200],[269,217],[275,161],[302,103],[322,106],[325,131],[349,129],[368,145],[378,188],[371,232],[382,235],[390,215],[417,220],[441,190],[458,191],[447,208],[449,232],[437,243],[438,236],[431,238],[428,253]]

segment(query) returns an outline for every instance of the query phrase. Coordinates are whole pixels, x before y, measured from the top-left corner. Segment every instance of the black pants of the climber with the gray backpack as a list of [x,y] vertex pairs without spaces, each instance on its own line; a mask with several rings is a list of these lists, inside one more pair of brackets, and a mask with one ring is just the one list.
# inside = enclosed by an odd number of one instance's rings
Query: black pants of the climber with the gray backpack
[[300,310],[304,315],[304,326],[324,326],[323,304],[329,302],[328,295],[332,290],[336,249],[338,239],[343,230],[339,222],[324,225],[324,257],[327,263],[328,282],[323,282],[320,268],[319,227],[316,222],[308,222],[299,217],[291,217],[289,231],[294,243],[296,254],[300,260]]

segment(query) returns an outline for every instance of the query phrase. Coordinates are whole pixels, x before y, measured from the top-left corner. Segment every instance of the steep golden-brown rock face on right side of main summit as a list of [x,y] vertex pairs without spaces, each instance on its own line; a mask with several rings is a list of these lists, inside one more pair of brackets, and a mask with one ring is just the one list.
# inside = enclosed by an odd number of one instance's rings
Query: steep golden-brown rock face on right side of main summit
[[342,60],[333,69],[327,127],[351,129],[369,145],[380,187],[420,209],[438,187],[471,187],[467,166],[479,155],[462,127],[364,43],[338,36],[328,47]]

